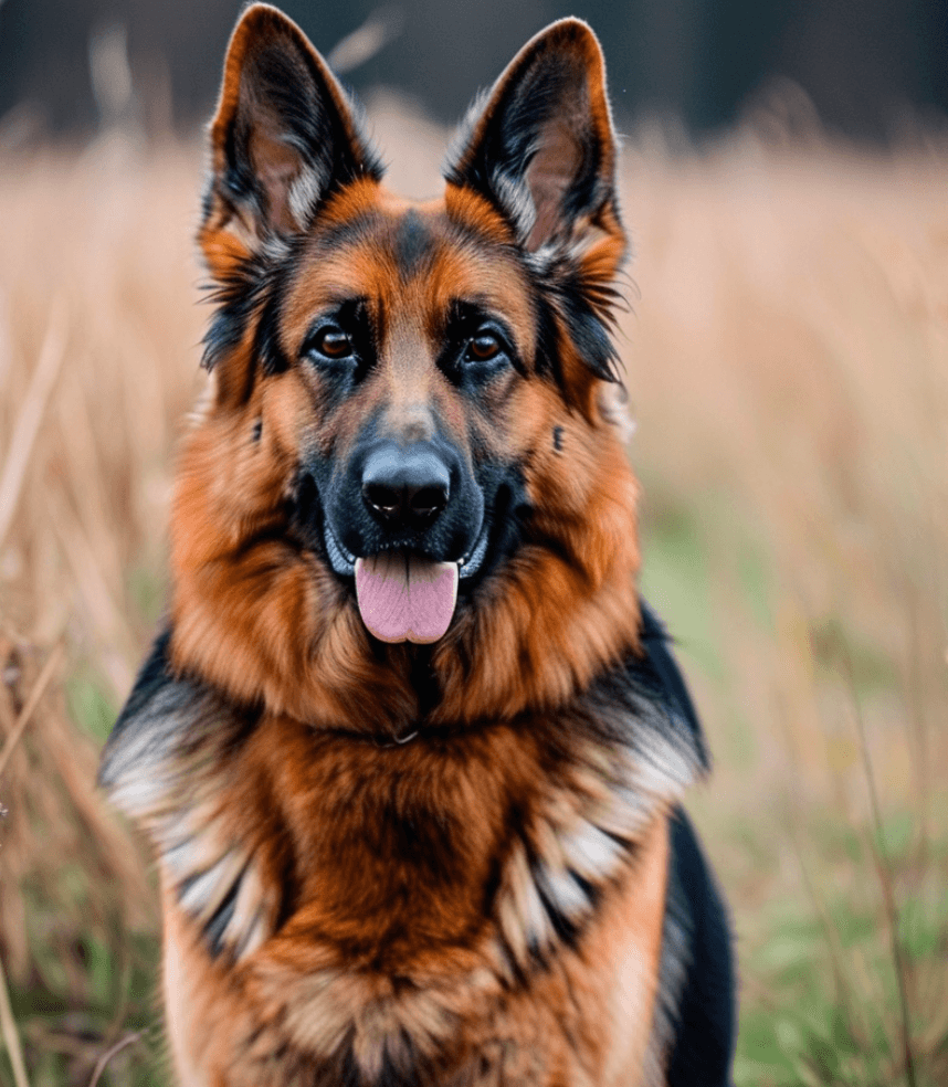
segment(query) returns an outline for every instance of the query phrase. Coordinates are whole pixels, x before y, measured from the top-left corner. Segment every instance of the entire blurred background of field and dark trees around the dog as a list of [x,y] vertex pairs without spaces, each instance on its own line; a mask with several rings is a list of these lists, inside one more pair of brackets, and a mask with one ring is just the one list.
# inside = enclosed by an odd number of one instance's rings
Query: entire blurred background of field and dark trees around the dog
[[[948,1083],[948,4],[287,2],[425,196],[587,18],[636,256],[643,590],[716,757],[737,1087]],[[0,0],[0,1084],[169,1083],[146,844],[94,788],[203,386],[201,125],[239,4]]]

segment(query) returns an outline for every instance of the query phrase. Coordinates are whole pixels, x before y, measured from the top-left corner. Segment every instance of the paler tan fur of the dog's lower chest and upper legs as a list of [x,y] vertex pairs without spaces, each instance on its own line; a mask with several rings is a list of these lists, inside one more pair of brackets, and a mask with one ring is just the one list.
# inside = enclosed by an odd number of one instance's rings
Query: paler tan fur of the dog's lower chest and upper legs
[[[640,840],[634,867],[604,893],[577,938],[543,953],[535,949],[524,965],[503,947],[497,928],[467,949],[429,948],[410,975],[354,970],[294,922],[236,971],[208,970],[203,950],[172,908],[169,1019],[173,1025],[176,1005],[181,1019],[197,1005],[221,1025],[208,1031],[206,1021],[200,1035],[190,1024],[172,1030],[185,1051],[179,1064],[218,1072],[229,1087],[651,1083],[642,1069],[666,857],[659,816]],[[223,1038],[227,1045],[219,1044]]]

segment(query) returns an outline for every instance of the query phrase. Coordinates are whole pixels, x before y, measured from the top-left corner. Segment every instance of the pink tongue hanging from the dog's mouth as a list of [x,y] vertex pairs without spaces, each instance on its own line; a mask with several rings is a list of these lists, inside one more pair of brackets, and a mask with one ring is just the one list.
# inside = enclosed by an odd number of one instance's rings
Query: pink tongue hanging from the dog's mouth
[[401,551],[356,559],[362,622],[382,642],[436,642],[457,600],[457,563]]

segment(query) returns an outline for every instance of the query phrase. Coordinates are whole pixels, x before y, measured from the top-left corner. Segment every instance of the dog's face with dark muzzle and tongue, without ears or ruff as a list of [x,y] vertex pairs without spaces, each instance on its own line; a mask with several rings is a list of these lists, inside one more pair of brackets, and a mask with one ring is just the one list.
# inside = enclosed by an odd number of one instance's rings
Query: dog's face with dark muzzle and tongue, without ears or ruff
[[345,236],[317,217],[275,317],[302,387],[294,528],[377,637],[432,642],[522,502],[533,299],[476,220],[360,189]]

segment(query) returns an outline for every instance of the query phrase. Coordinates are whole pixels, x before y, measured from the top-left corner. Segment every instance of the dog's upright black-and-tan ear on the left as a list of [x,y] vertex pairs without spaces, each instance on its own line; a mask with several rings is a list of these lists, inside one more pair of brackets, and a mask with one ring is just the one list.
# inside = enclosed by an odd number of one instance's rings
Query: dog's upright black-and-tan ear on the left
[[270,4],[234,29],[210,137],[200,242],[212,272],[305,230],[330,192],[382,173],[326,62]]

